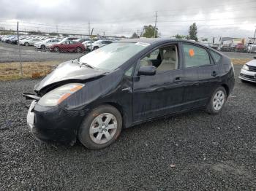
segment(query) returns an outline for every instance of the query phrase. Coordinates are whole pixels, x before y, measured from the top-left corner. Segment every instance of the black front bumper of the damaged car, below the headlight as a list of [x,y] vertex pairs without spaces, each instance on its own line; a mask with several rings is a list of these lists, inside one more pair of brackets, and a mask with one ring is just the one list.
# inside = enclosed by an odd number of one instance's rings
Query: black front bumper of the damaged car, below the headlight
[[32,101],[27,115],[29,130],[37,139],[61,144],[75,144],[82,119],[79,111],[39,106],[37,101]]

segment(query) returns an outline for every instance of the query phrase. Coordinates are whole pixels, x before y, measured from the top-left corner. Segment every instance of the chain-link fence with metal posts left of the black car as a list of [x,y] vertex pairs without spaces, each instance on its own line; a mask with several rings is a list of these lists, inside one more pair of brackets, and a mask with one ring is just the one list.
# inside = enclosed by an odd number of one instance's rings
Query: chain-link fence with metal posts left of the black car
[[[59,63],[79,58],[123,37],[0,28],[0,77],[43,77]],[[9,76],[9,77],[7,77]]]

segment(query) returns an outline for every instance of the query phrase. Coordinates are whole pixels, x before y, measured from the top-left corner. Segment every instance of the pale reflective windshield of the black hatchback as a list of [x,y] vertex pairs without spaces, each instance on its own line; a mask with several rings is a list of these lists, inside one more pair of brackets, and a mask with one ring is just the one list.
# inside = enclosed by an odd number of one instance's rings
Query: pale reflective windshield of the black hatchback
[[149,44],[147,43],[125,43],[118,42],[108,44],[94,50],[80,58],[81,63],[88,63],[98,69],[114,70],[128,61],[133,55],[137,54]]

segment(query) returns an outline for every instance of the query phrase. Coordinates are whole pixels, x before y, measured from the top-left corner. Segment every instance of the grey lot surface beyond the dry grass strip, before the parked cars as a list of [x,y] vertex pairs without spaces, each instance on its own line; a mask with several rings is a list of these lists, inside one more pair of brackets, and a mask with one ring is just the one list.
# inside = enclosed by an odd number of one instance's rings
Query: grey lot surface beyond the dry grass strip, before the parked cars
[[[39,61],[69,61],[83,54],[78,53],[56,53],[36,51],[34,47],[20,46],[21,61],[23,62],[39,62]],[[230,58],[253,58],[255,54],[247,54],[241,52],[223,52]],[[7,44],[0,42],[0,63],[18,62],[19,52],[18,46],[15,44]]]

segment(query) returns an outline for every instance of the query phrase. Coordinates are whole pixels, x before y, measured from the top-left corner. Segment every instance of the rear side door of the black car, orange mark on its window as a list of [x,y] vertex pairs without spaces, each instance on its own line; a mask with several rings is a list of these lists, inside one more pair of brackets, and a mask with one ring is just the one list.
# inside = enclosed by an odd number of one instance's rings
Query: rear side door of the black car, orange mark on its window
[[184,68],[184,109],[206,105],[218,86],[219,67],[207,48],[197,44],[182,44]]

